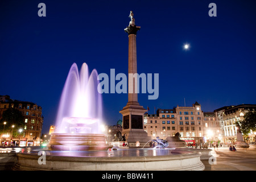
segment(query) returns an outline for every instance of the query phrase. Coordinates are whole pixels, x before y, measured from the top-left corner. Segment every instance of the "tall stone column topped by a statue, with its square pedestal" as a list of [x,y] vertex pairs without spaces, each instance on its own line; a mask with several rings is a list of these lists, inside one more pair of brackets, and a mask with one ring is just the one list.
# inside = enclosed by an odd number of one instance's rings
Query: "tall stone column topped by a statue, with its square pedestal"
[[[143,146],[146,142],[151,140],[151,137],[147,136],[144,131],[143,115],[147,111],[138,102],[138,87],[137,79],[137,48],[136,48],[136,34],[141,28],[135,25],[135,19],[133,18],[133,11],[130,12],[131,21],[129,26],[125,28],[125,32],[128,33],[129,38],[129,55],[128,55],[128,102],[125,107],[119,113],[123,115],[122,135],[126,135],[126,141],[130,147],[135,147],[135,143],[139,142]],[[135,76],[131,77],[131,75]]]

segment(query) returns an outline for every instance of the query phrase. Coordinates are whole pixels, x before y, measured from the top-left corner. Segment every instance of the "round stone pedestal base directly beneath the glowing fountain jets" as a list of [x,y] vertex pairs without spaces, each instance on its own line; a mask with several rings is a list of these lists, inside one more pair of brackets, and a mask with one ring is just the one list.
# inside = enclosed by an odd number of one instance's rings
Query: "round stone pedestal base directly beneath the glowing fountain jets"
[[94,151],[107,150],[108,138],[105,134],[52,133],[49,150]]

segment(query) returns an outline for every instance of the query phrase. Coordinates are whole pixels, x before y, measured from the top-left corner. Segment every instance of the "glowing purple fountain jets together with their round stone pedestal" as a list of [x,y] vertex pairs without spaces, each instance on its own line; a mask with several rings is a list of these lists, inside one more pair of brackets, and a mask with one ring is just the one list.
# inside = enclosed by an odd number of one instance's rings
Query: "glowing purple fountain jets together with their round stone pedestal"
[[56,131],[50,150],[105,150],[108,138],[102,133],[102,98],[97,92],[98,73],[89,76],[88,65],[80,72],[76,63],[69,70],[60,98]]

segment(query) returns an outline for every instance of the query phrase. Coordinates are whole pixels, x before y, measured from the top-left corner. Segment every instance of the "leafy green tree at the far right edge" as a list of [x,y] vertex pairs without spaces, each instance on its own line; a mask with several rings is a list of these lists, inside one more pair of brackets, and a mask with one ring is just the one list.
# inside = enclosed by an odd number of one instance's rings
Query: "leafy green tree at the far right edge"
[[243,118],[243,121],[238,122],[241,126],[243,135],[248,135],[251,130],[256,131],[256,112],[249,111],[243,116]]

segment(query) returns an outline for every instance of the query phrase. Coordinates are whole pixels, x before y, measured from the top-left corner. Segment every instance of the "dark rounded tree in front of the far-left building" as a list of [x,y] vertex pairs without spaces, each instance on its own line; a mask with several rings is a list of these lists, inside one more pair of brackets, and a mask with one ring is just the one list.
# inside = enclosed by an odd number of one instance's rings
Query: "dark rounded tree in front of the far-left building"
[[[6,122],[6,125],[3,125],[3,122]],[[15,108],[9,108],[6,111],[3,111],[2,119],[0,120],[0,132],[6,133],[13,131],[13,134],[18,133],[20,128],[24,128],[24,117],[22,112]],[[14,125],[14,128],[11,127]]]

